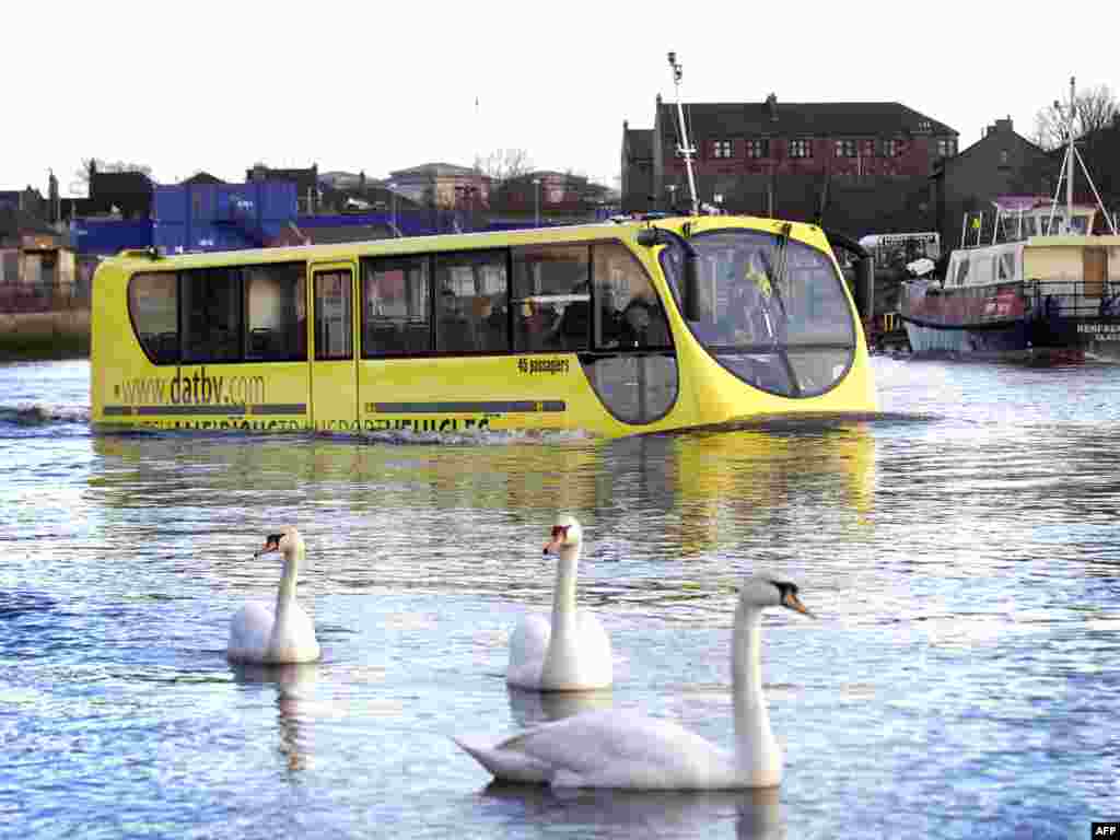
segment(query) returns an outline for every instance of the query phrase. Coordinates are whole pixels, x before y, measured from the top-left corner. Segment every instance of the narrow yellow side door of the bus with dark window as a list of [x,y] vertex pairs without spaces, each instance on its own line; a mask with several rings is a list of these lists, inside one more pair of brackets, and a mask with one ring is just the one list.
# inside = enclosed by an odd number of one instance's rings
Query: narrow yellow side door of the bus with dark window
[[357,431],[357,360],[351,262],[311,267],[311,426]]

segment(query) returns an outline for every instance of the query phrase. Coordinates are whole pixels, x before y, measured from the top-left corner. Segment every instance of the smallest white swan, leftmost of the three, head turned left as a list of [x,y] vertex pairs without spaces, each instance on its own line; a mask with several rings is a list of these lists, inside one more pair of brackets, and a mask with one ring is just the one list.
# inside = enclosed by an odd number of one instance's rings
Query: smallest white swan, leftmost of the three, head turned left
[[237,610],[230,623],[226,657],[231,662],[279,665],[319,659],[315,625],[296,603],[296,576],[306,553],[299,531],[288,525],[280,533],[270,534],[254,557],[274,551],[283,556],[276,609],[252,601]]

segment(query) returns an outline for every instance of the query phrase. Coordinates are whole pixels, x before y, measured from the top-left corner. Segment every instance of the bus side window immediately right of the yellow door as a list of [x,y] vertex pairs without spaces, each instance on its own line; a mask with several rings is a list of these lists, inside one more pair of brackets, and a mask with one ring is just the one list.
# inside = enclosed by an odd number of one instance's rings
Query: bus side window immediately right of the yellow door
[[430,258],[362,260],[362,355],[431,349]]

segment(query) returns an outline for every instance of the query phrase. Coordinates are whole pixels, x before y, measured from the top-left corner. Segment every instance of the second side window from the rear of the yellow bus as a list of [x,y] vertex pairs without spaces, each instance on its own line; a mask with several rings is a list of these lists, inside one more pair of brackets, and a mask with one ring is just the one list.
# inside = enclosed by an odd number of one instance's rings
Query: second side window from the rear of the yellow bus
[[243,326],[241,269],[192,269],[179,278],[183,361],[239,361]]

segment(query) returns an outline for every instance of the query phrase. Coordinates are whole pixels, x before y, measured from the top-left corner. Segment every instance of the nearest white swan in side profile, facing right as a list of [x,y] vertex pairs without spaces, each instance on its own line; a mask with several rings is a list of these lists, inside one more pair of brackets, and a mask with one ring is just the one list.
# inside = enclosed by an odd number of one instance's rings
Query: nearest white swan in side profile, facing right
[[745,582],[731,646],[731,753],[676,724],[617,710],[544,724],[494,746],[455,741],[504,782],[682,791],[781,784],[782,752],[771,731],[760,662],[763,608],[776,606],[812,615],[793,584],[769,577]]

